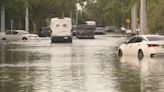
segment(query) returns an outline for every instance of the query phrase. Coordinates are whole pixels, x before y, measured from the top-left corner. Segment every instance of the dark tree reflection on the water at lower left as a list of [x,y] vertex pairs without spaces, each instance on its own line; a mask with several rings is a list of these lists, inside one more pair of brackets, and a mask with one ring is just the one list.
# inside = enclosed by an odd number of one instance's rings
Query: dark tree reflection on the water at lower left
[[33,92],[33,80],[46,72],[44,62],[49,58],[50,55],[30,51],[26,46],[1,44],[0,92]]

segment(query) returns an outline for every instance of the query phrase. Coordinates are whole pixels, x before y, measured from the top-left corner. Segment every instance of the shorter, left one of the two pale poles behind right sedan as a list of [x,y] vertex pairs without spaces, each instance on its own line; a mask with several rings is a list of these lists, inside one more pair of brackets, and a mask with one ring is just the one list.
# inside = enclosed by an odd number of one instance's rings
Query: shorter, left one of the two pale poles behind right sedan
[[134,4],[134,6],[131,9],[131,28],[132,33],[136,33],[137,29],[137,3]]

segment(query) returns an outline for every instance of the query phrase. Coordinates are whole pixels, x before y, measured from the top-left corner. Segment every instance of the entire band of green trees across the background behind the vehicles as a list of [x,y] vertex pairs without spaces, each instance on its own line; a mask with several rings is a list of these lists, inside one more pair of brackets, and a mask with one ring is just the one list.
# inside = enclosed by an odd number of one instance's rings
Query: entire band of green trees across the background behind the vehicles
[[[140,0],[0,0],[0,7],[6,10],[6,28],[13,20],[15,29],[23,29],[25,7],[29,8],[30,29],[37,32],[47,26],[52,17],[72,17],[76,19],[76,4],[83,10],[78,11],[79,22],[95,20],[98,25],[127,26],[126,19],[131,17],[131,7]],[[87,5],[84,7],[84,2]],[[164,0],[147,0],[148,23],[152,32],[164,28]]]

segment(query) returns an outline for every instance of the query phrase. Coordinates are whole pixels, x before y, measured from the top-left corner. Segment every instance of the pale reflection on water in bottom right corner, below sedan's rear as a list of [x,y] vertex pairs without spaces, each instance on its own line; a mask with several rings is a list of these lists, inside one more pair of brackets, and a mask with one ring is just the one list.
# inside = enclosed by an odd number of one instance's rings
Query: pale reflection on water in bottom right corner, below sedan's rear
[[141,62],[142,92],[164,91],[164,58],[145,58]]

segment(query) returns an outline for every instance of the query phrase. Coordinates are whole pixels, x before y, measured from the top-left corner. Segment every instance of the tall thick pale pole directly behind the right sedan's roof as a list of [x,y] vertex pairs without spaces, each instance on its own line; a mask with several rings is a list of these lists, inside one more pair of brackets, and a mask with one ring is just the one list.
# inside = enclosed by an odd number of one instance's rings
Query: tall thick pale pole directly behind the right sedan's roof
[[140,8],[140,27],[141,34],[147,34],[147,12],[146,12],[146,0],[141,0],[141,8]]

